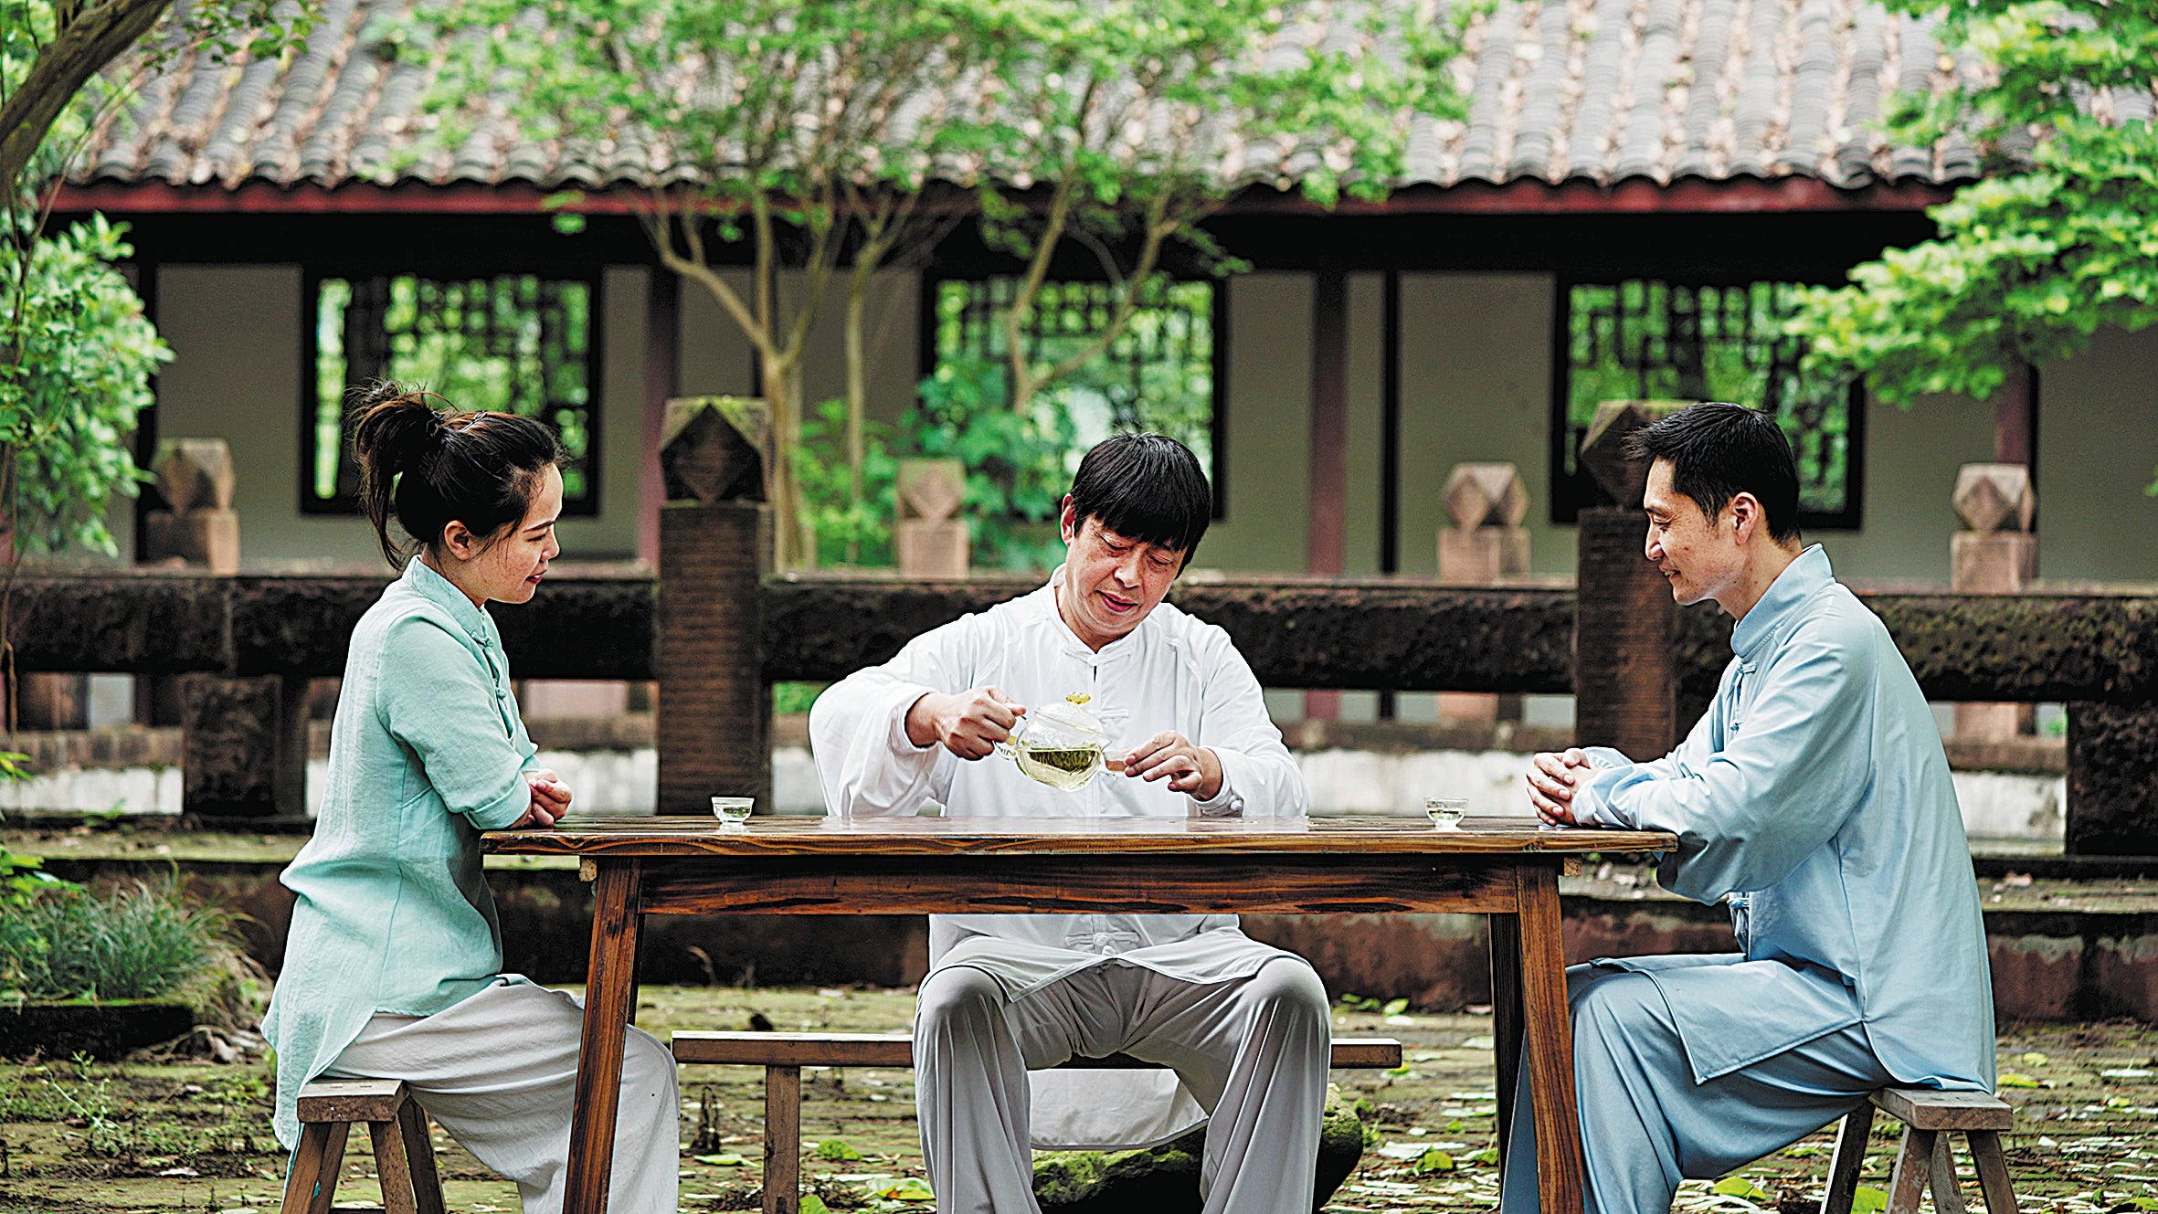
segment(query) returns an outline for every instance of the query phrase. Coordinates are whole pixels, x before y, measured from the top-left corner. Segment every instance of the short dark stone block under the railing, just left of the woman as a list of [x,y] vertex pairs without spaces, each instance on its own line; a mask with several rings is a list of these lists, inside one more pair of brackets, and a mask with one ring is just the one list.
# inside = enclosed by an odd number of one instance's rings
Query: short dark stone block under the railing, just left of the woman
[[181,809],[306,817],[306,679],[181,679]]

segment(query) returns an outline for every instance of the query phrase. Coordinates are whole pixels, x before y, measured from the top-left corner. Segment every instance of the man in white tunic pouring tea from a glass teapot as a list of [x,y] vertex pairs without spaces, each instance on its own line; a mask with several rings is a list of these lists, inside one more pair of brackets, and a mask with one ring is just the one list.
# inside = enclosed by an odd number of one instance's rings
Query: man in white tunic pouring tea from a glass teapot
[[[1226,632],[1161,602],[1211,515],[1180,442],[1094,446],[1047,587],[818,696],[829,813],[934,800],[945,817],[1303,817],[1252,668]],[[993,757],[1029,705],[1073,694],[1107,729],[1107,774],[1057,791]],[[1308,1214],[1329,1050],[1310,964],[1234,914],[930,916],[915,1100],[937,1210],[1036,1212],[1032,1145],[1142,1147],[1206,1123],[1206,1214]],[[1118,1052],[1170,1070],[1047,1070]]]

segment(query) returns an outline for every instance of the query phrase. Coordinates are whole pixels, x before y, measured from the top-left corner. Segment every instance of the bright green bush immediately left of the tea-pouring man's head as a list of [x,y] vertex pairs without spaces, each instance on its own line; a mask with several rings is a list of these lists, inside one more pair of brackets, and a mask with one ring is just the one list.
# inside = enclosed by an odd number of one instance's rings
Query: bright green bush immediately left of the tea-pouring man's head
[[1006,364],[950,360],[917,388],[900,449],[958,459],[967,468],[962,509],[973,526],[973,563],[986,569],[1049,569],[1064,561],[1057,509],[1079,457],[1079,431],[1055,401],[1019,414],[1006,408]]

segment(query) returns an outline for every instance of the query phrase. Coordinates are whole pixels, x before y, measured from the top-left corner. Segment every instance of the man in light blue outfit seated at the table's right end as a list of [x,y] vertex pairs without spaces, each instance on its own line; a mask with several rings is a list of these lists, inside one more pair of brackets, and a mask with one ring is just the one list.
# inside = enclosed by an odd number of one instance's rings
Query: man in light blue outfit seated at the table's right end
[[[1664,888],[1724,899],[1739,953],[1567,970],[1588,1210],[1664,1212],[1858,1108],[1880,1087],[1992,1089],[1977,880],[1940,729],[1888,630],[1798,537],[1772,418],[1703,403],[1631,438],[1647,556],[1737,625],[1716,703],[1677,750],[1536,755],[1552,824],[1668,830]],[[1534,1214],[1528,1067],[1504,1214]]]

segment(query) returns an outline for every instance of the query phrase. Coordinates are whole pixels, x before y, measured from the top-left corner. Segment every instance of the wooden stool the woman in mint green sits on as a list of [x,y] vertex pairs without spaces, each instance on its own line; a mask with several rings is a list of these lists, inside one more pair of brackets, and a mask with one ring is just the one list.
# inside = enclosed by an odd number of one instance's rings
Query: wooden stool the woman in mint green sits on
[[328,1214],[345,1132],[367,1121],[384,1214],[445,1214],[427,1113],[395,1078],[317,1078],[300,1089],[300,1149],[285,1179],[285,1214]]

